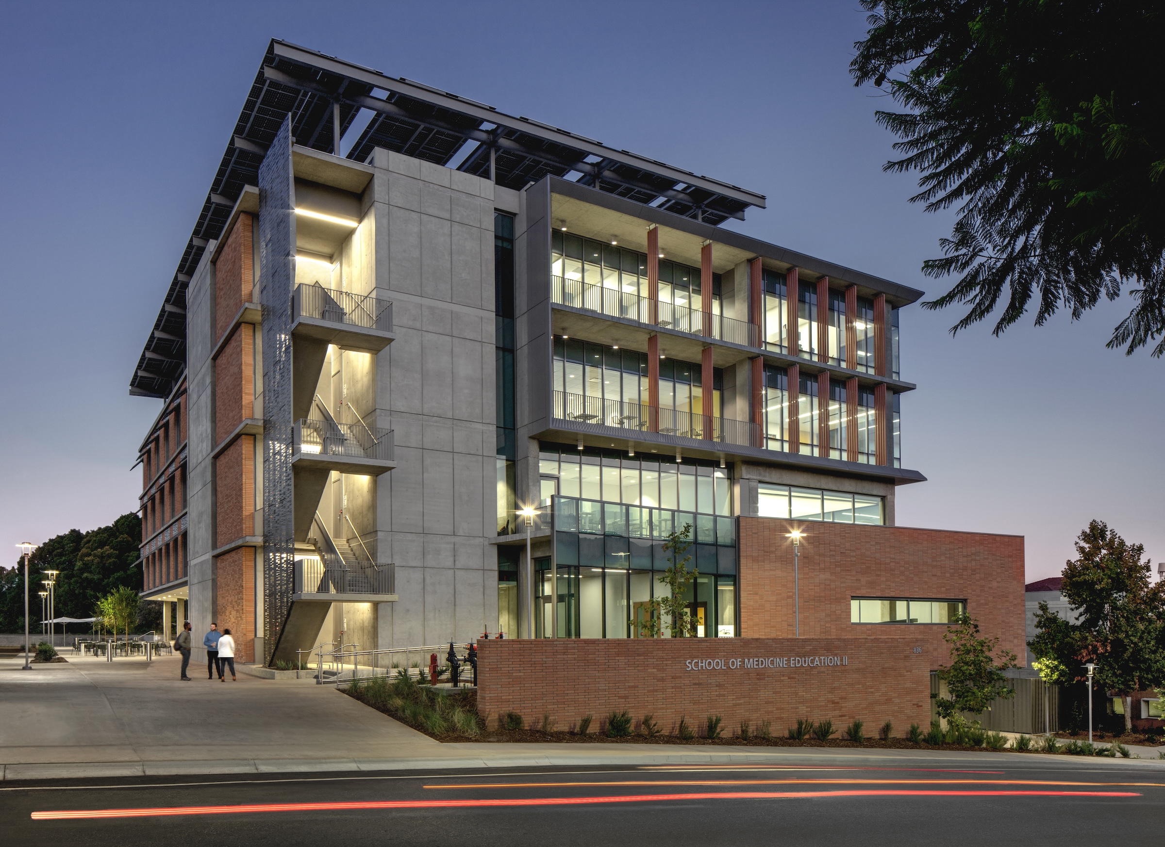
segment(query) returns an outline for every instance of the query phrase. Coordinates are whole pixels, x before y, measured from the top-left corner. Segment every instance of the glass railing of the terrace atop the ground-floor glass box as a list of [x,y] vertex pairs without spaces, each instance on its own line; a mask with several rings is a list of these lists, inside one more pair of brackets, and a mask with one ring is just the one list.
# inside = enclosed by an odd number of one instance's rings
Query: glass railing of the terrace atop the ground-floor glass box
[[555,529],[558,532],[666,541],[671,533],[683,532],[685,525],[692,527],[689,536],[691,541],[721,547],[736,546],[734,518],[555,497]]

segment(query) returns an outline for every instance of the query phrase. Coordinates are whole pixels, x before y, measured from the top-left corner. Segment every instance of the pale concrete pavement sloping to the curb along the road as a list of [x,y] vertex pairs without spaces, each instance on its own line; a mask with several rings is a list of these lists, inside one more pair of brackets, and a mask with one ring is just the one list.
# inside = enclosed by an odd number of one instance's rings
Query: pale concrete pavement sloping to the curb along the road
[[[386,771],[636,764],[984,764],[988,759],[1165,767],[1136,760],[1053,759],[944,750],[680,745],[440,743],[330,686],[206,678],[181,660],[72,661],[21,670],[0,660],[0,766],[10,780],[199,774]],[[1148,749],[1148,748],[1146,748]],[[1145,754],[1142,754],[1145,755]]]

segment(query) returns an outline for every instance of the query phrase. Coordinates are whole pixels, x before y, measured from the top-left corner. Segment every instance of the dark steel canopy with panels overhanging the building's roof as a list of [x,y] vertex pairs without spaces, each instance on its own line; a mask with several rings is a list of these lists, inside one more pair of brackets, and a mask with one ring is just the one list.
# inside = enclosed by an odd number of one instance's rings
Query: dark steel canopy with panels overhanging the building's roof
[[440,165],[457,161],[450,166],[487,179],[493,172],[499,185],[518,191],[548,173],[580,175],[580,185],[712,225],[743,219],[749,206],[764,207],[763,194],[273,40],[137,360],[130,394],[164,398],[182,378],[186,285],[206,244],[223,234],[242,187],[257,183],[259,163],[283,119],[291,115],[297,144],[337,154],[361,109],[372,116],[347,154],[358,162],[381,147]]

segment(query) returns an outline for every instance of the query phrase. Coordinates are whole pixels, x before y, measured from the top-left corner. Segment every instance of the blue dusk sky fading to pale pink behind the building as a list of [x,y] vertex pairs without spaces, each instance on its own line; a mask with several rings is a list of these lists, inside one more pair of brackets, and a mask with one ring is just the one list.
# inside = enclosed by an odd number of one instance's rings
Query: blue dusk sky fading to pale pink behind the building
[[[892,102],[848,76],[848,2],[13,3],[0,67],[0,543],[137,508],[161,401],[128,383],[267,42],[285,38],[768,197],[726,225],[930,297],[953,215],[889,175]],[[1059,574],[1093,518],[1165,557],[1165,361],[1107,350],[1128,299],[1002,337],[902,314],[901,526],[1026,536]],[[810,529],[811,532],[811,529]],[[0,561],[3,561],[0,558]],[[1156,567],[1155,567],[1156,570]]]

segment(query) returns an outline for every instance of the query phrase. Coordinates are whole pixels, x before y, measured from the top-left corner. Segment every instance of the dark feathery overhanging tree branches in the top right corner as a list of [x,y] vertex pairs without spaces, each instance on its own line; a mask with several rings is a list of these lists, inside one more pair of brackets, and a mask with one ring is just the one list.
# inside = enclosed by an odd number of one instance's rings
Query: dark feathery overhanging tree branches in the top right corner
[[[918,171],[912,202],[955,207],[930,277],[961,275],[924,304],[967,304],[952,333],[1003,302],[994,334],[1028,312],[1073,320],[1129,287],[1109,348],[1165,334],[1165,91],[1153,3],[1064,0],[862,0],[855,85],[905,112],[876,113]],[[1134,285],[1141,287],[1132,287]],[[1152,350],[1165,354],[1165,339]]]

